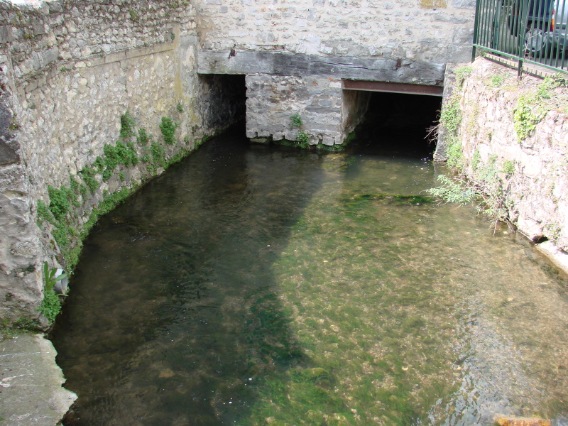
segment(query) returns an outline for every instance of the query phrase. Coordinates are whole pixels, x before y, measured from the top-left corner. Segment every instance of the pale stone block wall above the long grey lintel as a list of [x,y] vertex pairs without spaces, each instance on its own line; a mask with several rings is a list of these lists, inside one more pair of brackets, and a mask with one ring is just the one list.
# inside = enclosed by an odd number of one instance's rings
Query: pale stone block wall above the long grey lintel
[[464,62],[473,0],[195,0],[207,50]]

